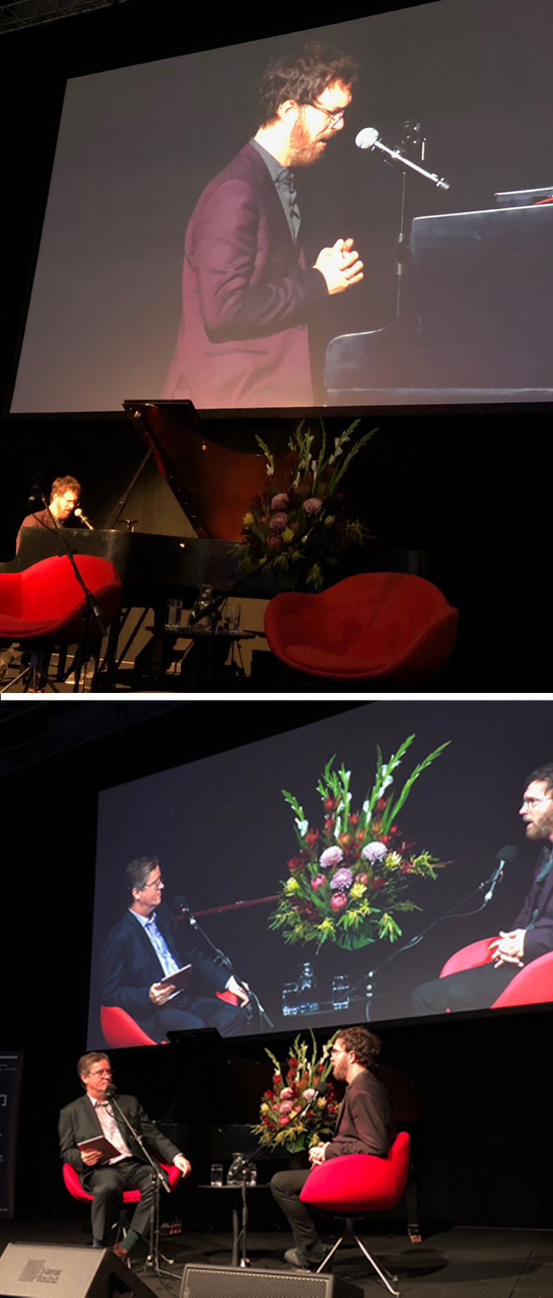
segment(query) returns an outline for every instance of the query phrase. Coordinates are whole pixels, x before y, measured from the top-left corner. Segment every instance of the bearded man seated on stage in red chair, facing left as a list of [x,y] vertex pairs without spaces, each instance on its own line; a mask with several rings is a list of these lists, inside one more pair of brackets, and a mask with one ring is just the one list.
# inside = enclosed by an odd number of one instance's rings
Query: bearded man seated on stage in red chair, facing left
[[[370,1072],[379,1053],[381,1041],[368,1028],[344,1028],[338,1033],[332,1049],[333,1072],[337,1081],[347,1084],[347,1090],[332,1141],[310,1149],[313,1167],[341,1154],[386,1158],[392,1138],[391,1099]],[[285,1260],[302,1271],[316,1271],[322,1262],[324,1247],[310,1210],[299,1198],[308,1176],[308,1171],[277,1172],[271,1190],[294,1236],[294,1247],[286,1250]]]

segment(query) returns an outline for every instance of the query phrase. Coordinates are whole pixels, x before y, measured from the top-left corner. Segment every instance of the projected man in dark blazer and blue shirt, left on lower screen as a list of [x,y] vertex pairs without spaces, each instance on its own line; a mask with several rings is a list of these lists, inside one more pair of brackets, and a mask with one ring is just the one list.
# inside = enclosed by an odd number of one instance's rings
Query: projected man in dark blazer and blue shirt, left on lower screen
[[[139,857],[126,874],[131,905],[104,946],[102,1005],[120,1006],[155,1041],[192,1028],[216,1028],[221,1037],[247,1032],[247,992],[162,906],[158,858]],[[170,979],[185,966],[189,981],[177,990]],[[238,1005],[220,999],[221,992]]]

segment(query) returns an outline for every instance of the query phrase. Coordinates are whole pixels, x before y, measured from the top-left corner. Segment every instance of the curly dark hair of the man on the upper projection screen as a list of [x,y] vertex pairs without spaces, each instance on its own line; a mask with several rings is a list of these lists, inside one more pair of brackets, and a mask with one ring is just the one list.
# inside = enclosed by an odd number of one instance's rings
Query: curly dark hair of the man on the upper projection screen
[[297,55],[272,58],[262,78],[258,122],[260,126],[273,122],[288,99],[294,104],[312,104],[334,82],[350,88],[356,75],[355,58],[315,40]]

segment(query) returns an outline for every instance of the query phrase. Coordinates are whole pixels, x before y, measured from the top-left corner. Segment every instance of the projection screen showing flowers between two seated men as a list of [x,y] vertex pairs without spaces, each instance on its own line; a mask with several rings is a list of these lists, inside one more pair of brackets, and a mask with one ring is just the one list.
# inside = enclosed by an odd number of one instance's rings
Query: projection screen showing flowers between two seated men
[[[127,914],[132,897],[126,866],[152,855],[164,881],[159,914],[174,912],[175,897],[184,896],[206,935],[194,933],[186,918],[175,920],[180,951],[198,942],[210,955],[206,942],[215,944],[236,976],[255,990],[276,1031],[307,1024],[332,1029],[365,1018],[383,1022],[435,1012],[423,1011],[417,997],[413,1001],[416,989],[436,980],[444,963],[466,945],[521,924],[534,935],[526,938],[525,967],[513,967],[515,977],[526,979],[522,1001],[553,998],[548,993],[553,986],[553,872],[540,885],[541,901],[534,897],[531,914],[519,919],[537,866],[547,861],[544,849],[552,846],[550,798],[537,809],[539,831],[526,824],[527,809],[521,814],[528,775],[550,761],[550,705],[540,702],[374,702],[101,793],[89,1049],[104,1044],[100,1006],[106,999],[111,1006],[136,1007],[142,1024],[145,1012],[145,1031],[154,1040],[163,1037],[148,1018],[152,1006],[142,953],[132,938],[130,958],[126,944],[118,945],[113,936],[123,918],[127,928],[140,927]],[[390,811],[417,766],[447,746],[413,781],[389,835],[381,820],[379,831],[361,833],[356,841],[378,745],[389,766],[408,736],[414,739],[400,765],[392,772],[381,771],[381,796],[392,798]],[[341,833],[351,835],[348,841],[337,836],[335,802],[324,803],[317,792],[334,754],[333,770],[343,765],[351,772],[354,819],[346,831],[341,826]],[[295,797],[295,810],[282,790]],[[537,811],[534,807],[531,815]],[[372,811],[373,823],[378,815],[381,806]],[[425,851],[447,862],[435,877],[421,871]],[[289,920],[275,928],[272,916],[284,897]],[[352,912],[363,902],[369,914],[365,907],[359,923]],[[443,919],[449,911],[451,918]],[[409,946],[422,932],[426,936]],[[295,996],[294,984],[302,981],[306,963],[312,966],[316,989],[308,992],[311,1009],[302,1014],[298,1006],[306,1002],[300,988]],[[102,990],[106,972],[107,997]],[[335,986],[333,992],[337,977],[346,980],[346,992]],[[372,996],[367,994],[369,983]],[[495,1003],[497,989],[492,999],[486,1001],[487,994],[480,1010]],[[243,1032],[260,1031],[255,1010]]]

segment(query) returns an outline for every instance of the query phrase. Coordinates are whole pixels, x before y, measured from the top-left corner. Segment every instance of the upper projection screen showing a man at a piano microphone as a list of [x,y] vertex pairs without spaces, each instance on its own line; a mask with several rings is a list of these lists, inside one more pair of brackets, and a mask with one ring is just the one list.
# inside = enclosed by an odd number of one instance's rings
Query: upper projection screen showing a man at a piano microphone
[[[344,127],[294,169],[311,296],[286,315],[306,271],[265,162],[246,193],[233,160],[268,61],[312,40],[359,74]],[[439,0],[69,80],[12,410],[550,400],[552,56],[549,0]],[[355,147],[365,127],[449,184],[407,175],[399,327],[403,169]],[[363,282],[313,289],[350,236]]]

